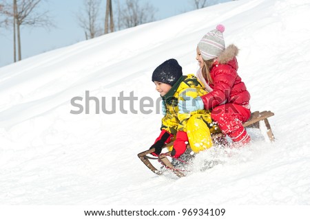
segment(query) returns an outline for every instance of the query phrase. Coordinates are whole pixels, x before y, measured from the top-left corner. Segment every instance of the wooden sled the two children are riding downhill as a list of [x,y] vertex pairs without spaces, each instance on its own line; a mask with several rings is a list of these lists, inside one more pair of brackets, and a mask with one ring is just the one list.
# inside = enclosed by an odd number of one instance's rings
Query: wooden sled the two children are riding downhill
[[[269,137],[269,140],[274,141],[273,132],[271,130],[269,121],[267,119],[273,115],[274,115],[274,113],[272,113],[271,111],[262,111],[262,112],[255,111],[254,113],[251,113],[250,119],[247,122],[245,122],[243,124],[243,126],[244,127],[251,127],[251,128],[260,128],[260,126],[262,125],[262,124],[260,124],[260,122],[264,122],[266,130],[267,130],[267,136]],[[216,139],[216,138],[221,137],[221,136],[223,136],[223,134],[218,133],[218,134],[212,135],[211,138]],[[166,146],[164,146],[163,148],[173,146],[173,144],[174,144],[174,142],[172,141],[172,142],[168,143]],[[187,147],[189,147],[189,145],[187,145]],[[172,172],[174,172],[174,174],[176,174],[176,176],[178,176],[178,177],[185,176],[185,174],[183,174],[182,170],[176,169],[174,167],[174,165],[172,165],[172,163],[169,161],[169,159],[167,159],[167,157],[170,156],[171,152],[160,154],[158,157],[148,156],[149,154],[151,154],[154,151],[155,151],[155,148],[152,148],[152,149],[145,150],[145,151],[138,154],[138,158],[141,159],[141,161],[147,166],[147,168],[149,168],[149,170],[152,170],[152,172],[154,172],[155,174],[158,174],[158,175],[163,174],[163,172],[156,169],[154,167],[154,165],[152,165],[152,163],[149,161],[149,160],[158,160],[158,162],[161,163],[164,168],[172,170]]]

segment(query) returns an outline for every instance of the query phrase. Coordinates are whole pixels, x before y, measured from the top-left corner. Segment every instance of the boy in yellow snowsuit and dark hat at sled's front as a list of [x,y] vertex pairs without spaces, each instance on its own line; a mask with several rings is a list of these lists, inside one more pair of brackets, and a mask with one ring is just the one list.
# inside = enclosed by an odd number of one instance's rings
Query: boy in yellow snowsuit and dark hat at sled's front
[[[152,74],[152,81],[156,85],[156,91],[163,98],[163,112],[161,134],[151,148],[155,148],[152,154],[161,154],[163,146],[172,139],[174,145],[172,157],[178,158],[186,150],[187,143],[194,152],[200,152],[212,146],[211,132],[220,131],[212,124],[209,111],[198,110],[179,113],[178,102],[207,94],[204,87],[198,82],[196,76],[190,74],[183,76],[182,67],[175,59],[169,59],[159,65]],[[151,149],[150,148],[150,149]]]

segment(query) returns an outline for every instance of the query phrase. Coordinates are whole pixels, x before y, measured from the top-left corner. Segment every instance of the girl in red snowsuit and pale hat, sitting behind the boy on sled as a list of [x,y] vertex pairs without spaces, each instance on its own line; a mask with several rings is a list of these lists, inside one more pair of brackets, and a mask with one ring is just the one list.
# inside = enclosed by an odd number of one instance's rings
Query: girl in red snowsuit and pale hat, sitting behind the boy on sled
[[224,30],[223,25],[218,25],[197,46],[196,60],[200,67],[197,78],[209,93],[180,101],[178,108],[180,113],[210,109],[211,118],[223,134],[234,141],[234,146],[241,146],[251,141],[242,126],[251,116],[250,95],[237,73],[238,48],[235,45],[225,48]]

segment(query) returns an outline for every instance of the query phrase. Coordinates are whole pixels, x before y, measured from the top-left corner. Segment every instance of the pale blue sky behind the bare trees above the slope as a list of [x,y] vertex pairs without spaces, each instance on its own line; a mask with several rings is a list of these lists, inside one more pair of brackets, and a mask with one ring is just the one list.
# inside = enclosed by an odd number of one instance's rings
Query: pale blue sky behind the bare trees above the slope
[[[3,0],[0,0],[3,1]],[[21,56],[28,58],[45,51],[58,49],[85,40],[84,32],[79,27],[76,13],[83,8],[84,0],[47,0],[40,6],[40,10],[50,10],[56,27],[46,30],[43,27],[22,27]],[[148,0],[141,0],[141,3]],[[214,0],[211,3],[229,0]],[[104,1],[105,2],[105,1]],[[116,5],[116,0],[112,3]],[[120,3],[125,0],[120,0]],[[148,1],[157,8],[155,19],[165,19],[194,9],[191,0],[156,0]],[[0,67],[13,62],[12,30],[0,29]]]

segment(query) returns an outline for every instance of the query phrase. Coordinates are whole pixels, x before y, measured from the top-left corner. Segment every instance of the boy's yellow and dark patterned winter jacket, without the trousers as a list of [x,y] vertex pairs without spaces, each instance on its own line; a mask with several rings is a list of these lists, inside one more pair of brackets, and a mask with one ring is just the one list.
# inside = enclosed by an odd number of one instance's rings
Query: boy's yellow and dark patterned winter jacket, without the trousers
[[[194,74],[189,74],[188,76],[182,76],[174,84],[170,91],[162,96],[163,102],[165,104],[167,113],[162,119],[161,130],[167,130],[176,135],[177,131],[187,132],[187,121],[189,117],[195,114],[210,114],[209,111],[199,110],[192,113],[178,113],[178,101],[184,100],[184,97],[198,97],[207,94],[203,85],[198,82],[198,79]],[[211,116],[208,116],[207,124],[211,124]],[[211,128],[211,127],[210,127]]]

